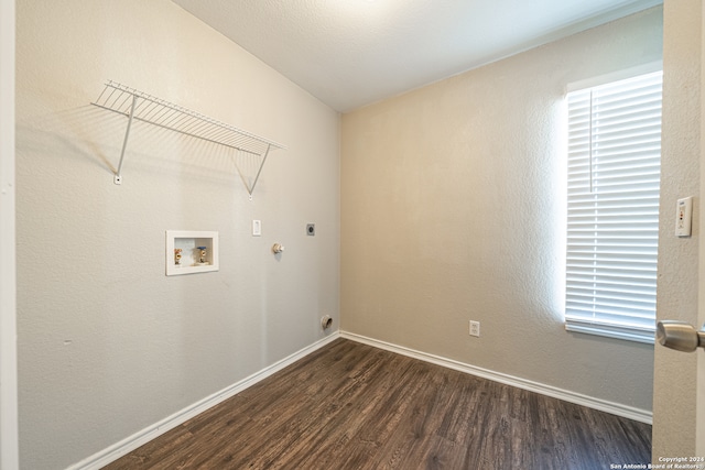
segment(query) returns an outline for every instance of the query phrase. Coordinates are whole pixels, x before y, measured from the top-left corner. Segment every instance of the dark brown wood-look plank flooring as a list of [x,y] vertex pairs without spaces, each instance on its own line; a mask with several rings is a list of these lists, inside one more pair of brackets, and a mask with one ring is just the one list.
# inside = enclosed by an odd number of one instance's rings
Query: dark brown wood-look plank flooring
[[338,339],[105,469],[609,469],[651,426]]

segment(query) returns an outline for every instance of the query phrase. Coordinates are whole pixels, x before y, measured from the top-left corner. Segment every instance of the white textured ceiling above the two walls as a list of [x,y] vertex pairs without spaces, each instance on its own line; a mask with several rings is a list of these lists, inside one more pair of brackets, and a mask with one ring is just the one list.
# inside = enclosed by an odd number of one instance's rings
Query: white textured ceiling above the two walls
[[346,112],[662,0],[173,0]]

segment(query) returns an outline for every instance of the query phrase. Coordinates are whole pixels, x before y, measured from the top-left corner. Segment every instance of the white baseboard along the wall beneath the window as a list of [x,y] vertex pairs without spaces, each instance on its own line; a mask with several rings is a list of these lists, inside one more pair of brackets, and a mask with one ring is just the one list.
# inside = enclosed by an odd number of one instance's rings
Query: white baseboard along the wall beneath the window
[[436,365],[453,369],[456,371],[465,372],[471,375],[477,375],[482,379],[488,379],[495,382],[503,383],[506,385],[516,386],[518,389],[528,390],[531,392],[540,393],[542,395],[552,396],[554,398],[563,400],[565,402],[575,403],[577,405],[587,406],[588,408],[599,409],[600,412],[610,413],[612,415],[622,416],[629,419],[633,419],[640,423],[652,424],[653,414],[647,409],[640,409],[632,406],[622,405],[619,403],[608,402],[606,400],[595,398],[593,396],[583,395],[581,393],[571,392],[567,390],[557,389],[552,385],[546,385],[539,382],[533,382],[525,379],[516,378],[512,375],[503,374],[500,372],[490,371],[488,369],[477,368],[452,359],[442,358],[440,356],[429,354],[426,352],[416,351],[402,346],[392,345],[377,339],[368,338],[365,336],[340,331],[341,338],[347,338],[352,341],[361,342],[375,348],[384,349],[387,351],[395,352],[410,358],[420,359],[425,362],[431,362]]

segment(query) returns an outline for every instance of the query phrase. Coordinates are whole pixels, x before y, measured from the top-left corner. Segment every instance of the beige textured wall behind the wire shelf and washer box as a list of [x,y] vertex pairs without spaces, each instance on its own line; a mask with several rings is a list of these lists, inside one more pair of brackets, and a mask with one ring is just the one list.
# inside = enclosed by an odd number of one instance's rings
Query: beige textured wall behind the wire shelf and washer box
[[[57,469],[337,327],[339,114],[167,0],[17,13],[21,467]],[[116,186],[107,79],[289,149],[249,201],[228,156],[135,125]],[[220,271],[166,277],[167,229],[219,231]]]

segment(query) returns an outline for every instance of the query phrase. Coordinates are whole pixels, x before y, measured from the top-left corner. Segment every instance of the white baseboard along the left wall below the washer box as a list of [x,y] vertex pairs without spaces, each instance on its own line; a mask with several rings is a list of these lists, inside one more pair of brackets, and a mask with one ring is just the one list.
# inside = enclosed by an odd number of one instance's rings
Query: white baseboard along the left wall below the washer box
[[130,453],[132,450],[137,449],[140,446],[149,442],[150,440],[161,436],[170,429],[175,428],[176,426],[186,423],[188,419],[194,416],[205,412],[206,409],[217,405],[220,402],[228,400],[229,397],[238,394],[239,392],[254,385],[261,380],[267,379],[268,376],[279,372],[288,365],[293,364],[297,360],[311,354],[317,349],[323,348],[327,343],[339,338],[339,332],[336,331],[326,338],[323,338],[311,346],[307,346],[300,351],[294,352],[293,354],[282,359],[273,363],[272,365],[262,369],[259,372],[253,373],[252,375],[234,383],[230,386],[227,386],[219,392],[214,393],[210,396],[207,396],[191,406],[187,406],[173,415],[162,419],[161,422],[153,424],[132,436],[129,436],[121,441],[97,452],[93,456],[79,461],[78,463],[74,463],[68,467],[67,470],[98,470],[110,462],[116,461],[122,456]]

